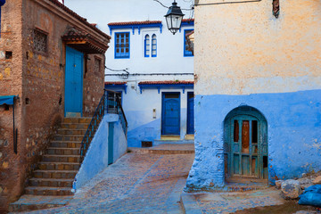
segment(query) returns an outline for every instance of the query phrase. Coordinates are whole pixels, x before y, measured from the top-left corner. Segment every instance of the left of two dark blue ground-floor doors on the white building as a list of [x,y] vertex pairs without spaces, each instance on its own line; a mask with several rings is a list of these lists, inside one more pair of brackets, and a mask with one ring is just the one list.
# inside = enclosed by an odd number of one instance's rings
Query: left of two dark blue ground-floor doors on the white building
[[162,94],[161,134],[179,136],[180,97],[179,93]]

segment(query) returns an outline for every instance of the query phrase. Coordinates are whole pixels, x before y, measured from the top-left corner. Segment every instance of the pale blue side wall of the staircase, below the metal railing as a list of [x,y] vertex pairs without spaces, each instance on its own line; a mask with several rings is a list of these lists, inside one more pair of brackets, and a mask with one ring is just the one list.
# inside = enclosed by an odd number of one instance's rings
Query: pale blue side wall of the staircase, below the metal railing
[[73,188],[78,190],[96,174],[108,167],[108,129],[114,123],[113,160],[117,161],[127,152],[127,139],[119,121],[119,115],[107,114],[97,129],[86,157],[76,175]]

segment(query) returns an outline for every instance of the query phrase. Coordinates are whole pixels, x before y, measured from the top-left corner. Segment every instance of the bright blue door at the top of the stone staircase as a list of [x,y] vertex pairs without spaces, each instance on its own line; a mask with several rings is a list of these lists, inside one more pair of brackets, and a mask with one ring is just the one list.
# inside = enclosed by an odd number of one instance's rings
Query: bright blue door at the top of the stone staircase
[[65,116],[82,116],[83,53],[66,47]]

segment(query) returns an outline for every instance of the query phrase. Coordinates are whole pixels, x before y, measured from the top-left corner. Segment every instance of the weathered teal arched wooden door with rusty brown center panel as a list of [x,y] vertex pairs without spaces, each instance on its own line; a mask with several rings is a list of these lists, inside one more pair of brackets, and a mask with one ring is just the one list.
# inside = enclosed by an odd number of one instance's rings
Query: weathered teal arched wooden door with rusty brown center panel
[[255,108],[240,106],[224,120],[226,178],[268,179],[268,123]]

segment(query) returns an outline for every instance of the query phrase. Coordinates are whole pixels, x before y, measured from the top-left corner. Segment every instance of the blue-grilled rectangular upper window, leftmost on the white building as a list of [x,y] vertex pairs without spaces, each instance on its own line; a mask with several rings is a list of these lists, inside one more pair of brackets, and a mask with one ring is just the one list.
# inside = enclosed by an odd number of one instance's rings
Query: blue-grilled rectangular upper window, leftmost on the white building
[[115,33],[115,58],[129,58],[129,32]]

